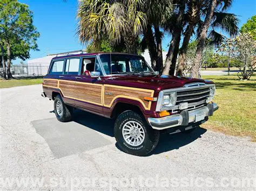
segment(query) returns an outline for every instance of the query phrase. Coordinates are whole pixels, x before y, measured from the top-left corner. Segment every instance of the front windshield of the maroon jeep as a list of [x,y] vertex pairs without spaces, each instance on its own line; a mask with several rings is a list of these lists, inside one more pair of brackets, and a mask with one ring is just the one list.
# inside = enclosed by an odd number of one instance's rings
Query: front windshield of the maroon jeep
[[[110,58],[111,56],[111,58]],[[109,74],[134,74],[149,73],[154,71],[147,65],[142,56],[129,54],[101,54],[99,55],[102,66],[107,75]]]

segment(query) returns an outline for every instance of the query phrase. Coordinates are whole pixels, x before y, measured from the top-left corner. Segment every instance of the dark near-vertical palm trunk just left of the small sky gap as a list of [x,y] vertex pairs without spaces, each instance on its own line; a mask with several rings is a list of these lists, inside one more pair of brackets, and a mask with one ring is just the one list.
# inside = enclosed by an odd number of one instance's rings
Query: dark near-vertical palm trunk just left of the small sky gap
[[163,72],[163,49],[162,49],[162,40],[161,32],[158,25],[154,26],[154,36],[157,41],[157,66],[156,70],[161,74]]

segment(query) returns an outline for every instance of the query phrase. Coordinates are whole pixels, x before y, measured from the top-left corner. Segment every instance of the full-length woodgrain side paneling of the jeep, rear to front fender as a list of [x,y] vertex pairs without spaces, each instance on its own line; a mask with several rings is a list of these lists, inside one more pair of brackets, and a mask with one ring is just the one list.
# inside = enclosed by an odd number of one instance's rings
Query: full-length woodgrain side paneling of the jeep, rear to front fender
[[109,108],[114,100],[122,97],[139,101],[145,110],[150,110],[152,102],[144,100],[144,97],[153,97],[154,94],[154,90],[149,89],[57,79],[44,79],[43,86],[58,88],[64,97]]

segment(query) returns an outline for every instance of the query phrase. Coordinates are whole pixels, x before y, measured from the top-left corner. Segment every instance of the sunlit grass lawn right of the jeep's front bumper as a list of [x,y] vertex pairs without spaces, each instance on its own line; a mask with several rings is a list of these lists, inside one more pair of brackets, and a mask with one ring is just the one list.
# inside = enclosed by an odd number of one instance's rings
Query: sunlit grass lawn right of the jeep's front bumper
[[201,126],[228,135],[250,136],[256,142],[256,76],[248,81],[240,81],[235,75],[203,78],[215,82],[213,101],[219,110]]

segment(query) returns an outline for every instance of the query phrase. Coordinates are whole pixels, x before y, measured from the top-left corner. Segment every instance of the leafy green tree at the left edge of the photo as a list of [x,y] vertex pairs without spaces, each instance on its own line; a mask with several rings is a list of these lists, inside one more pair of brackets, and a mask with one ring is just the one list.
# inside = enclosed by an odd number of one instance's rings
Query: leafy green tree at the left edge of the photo
[[[17,2],[17,0],[2,0],[0,3],[1,43],[6,47],[8,79],[12,78],[11,60],[16,57],[29,58],[29,49],[37,50],[36,40],[39,33],[33,26],[32,17],[33,14],[29,10],[29,6]],[[20,50],[21,48],[25,48],[26,51]]]

